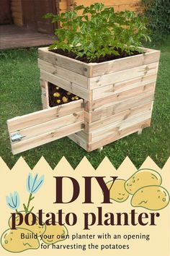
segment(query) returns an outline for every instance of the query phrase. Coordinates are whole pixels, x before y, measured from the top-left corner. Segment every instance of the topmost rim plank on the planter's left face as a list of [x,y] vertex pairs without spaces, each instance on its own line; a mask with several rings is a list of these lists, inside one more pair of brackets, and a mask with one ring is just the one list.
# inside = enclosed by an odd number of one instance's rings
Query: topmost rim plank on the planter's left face
[[48,61],[52,64],[58,65],[58,67],[63,67],[64,69],[68,69],[78,74],[82,74],[86,77],[90,77],[90,73],[91,73],[90,64],[86,64],[82,61],[78,61],[76,59],[71,59],[66,56],[62,56],[60,54],[55,54],[53,52],[50,52],[48,51],[48,47],[39,48],[38,56],[40,59],[44,61]]

